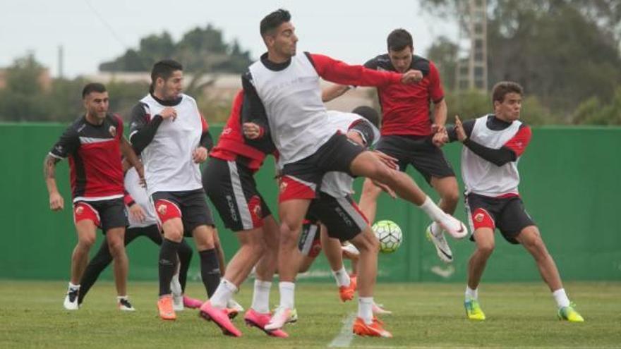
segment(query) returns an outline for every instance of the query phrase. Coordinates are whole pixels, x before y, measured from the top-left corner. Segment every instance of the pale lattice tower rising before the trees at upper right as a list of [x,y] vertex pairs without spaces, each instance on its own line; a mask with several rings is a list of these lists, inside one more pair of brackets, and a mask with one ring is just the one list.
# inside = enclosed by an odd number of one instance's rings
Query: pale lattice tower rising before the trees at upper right
[[457,89],[488,90],[487,0],[459,3]]

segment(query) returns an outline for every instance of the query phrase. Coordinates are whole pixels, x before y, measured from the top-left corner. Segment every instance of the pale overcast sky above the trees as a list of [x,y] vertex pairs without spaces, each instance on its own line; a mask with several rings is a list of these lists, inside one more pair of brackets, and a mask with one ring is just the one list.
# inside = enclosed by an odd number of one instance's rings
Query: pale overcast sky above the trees
[[259,22],[281,7],[291,11],[299,49],[348,63],[383,53],[395,27],[412,33],[418,54],[440,35],[457,37],[453,25],[423,13],[416,0],[19,0],[3,5],[0,67],[32,51],[56,76],[62,45],[65,75],[95,73],[99,63],[138,47],[142,37],[166,30],[177,41],[207,23],[222,30],[227,42],[238,39],[256,59],[265,50]]

